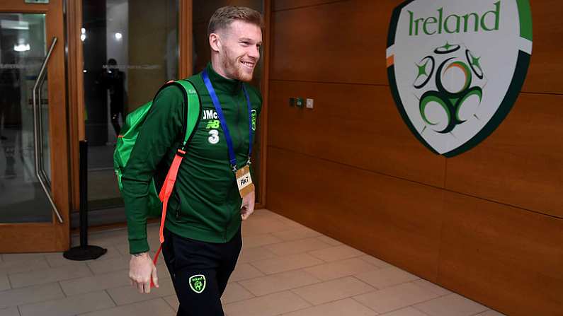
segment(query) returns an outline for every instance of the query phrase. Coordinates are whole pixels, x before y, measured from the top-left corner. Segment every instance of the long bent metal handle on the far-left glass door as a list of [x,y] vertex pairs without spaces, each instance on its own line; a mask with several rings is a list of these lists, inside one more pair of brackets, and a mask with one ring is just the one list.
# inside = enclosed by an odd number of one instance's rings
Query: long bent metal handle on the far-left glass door
[[[59,209],[55,205],[55,201],[51,196],[51,192],[47,189],[47,177],[45,175],[45,170],[43,169],[43,164],[40,163],[40,154],[42,153],[42,140],[43,140],[43,133],[42,133],[42,122],[41,122],[41,100],[40,100],[40,92],[39,88],[42,86],[43,82],[45,81],[45,73],[47,72],[47,63],[51,57],[53,49],[55,49],[55,45],[57,44],[57,37],[53,37],[51,42],[51,47],[47,52],[47,56],[43,59],[43,64],[41,66],[41,70],[37,76],[37,80],[35,81],[35,85],[33,85],[33,138],[34,138],[34,146],[35,146],[35,176],[39,180],[41,187],[45,194],[47,195],[47,199],[49,200],[52,211],[57,216],[57,220],[59,223],[63,223],[61,214],[59,213]],[[39,99],[39,100],[38,100]]]

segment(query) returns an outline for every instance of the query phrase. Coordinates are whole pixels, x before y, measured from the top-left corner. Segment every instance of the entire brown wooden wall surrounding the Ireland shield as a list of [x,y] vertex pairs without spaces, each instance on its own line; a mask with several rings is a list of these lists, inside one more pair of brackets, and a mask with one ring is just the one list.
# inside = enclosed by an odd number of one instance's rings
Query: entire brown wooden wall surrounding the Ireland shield
[[448,160],[390,97],[383,59],[400,2],[274,2],[266,207],[509,315],[563,315],[563,1],[530,1],[525,93]]

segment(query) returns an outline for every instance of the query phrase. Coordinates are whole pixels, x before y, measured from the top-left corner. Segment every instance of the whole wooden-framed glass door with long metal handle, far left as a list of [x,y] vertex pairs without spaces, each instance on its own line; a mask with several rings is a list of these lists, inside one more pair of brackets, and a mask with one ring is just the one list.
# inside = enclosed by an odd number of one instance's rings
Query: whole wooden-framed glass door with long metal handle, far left
[[0,6],[0,252],[61,251],[69,247],[63,4],[26,2]]

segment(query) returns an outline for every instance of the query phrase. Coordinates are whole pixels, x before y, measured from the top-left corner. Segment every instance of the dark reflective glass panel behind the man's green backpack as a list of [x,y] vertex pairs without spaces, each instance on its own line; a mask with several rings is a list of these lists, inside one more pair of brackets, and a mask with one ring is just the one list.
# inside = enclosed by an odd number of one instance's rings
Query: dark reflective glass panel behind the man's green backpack
[[113,150],[128,112],[178,79],[178,0],[82,0],[90,209],[123,206]]

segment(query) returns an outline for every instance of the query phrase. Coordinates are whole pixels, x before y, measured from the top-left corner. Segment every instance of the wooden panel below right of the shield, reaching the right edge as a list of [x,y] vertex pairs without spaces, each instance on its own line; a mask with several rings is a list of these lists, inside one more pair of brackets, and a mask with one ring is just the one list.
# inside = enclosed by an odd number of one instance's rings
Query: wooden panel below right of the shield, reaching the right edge
[[562,104],[522,93],[494,134],[447,160],[446,187],[563,218]]

